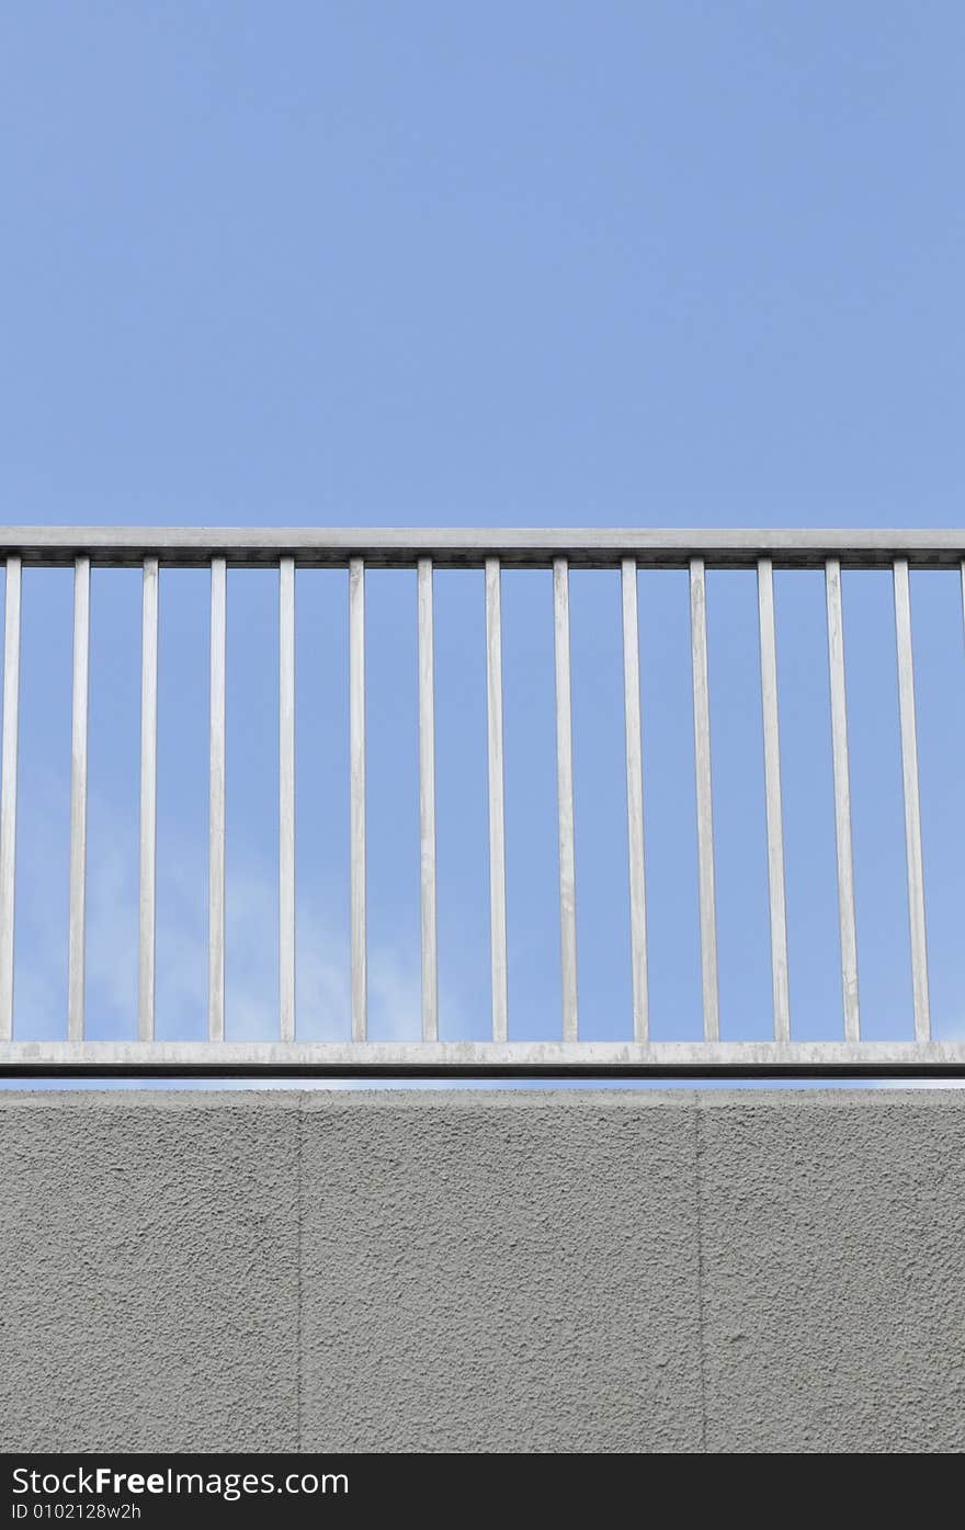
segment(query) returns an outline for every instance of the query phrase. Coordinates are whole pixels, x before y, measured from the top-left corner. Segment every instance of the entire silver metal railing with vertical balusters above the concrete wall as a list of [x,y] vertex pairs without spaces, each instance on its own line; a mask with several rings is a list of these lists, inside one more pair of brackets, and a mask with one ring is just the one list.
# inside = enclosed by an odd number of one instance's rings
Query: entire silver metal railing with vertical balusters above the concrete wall
[[[359,529],[121,529],[0,528],[6,563],[3,741],[0,788],[0,1071],[12,1073],[960,1073],[965,1043],[931,1039],[925,892],[918,785],[915,679],[908,571],[953,568],[962,574],[962,531],[359,531]],[[67,1040],[14,1040],[14,887],[17,843],[17,744],[21,569],[73,566],[73,725],[70,783],[70,901]],[[138,1040],[84,1037],[84,923],[87,820],[87,692],[92,565],[139,566],[142,592],[141,851]],[[211,569],[208,1040],[154,1039],[156,797],[158,797],[158,589],[162,568]],[[225,675],[226,572],[280,569],[278,707],[278,913],[280,991],[275,1042],[225,1040]],[[349,572],[350,753],[350,1042],[297,1039],[295,1017],[295,569]],[[422,906],[422,1039],[367,1039],[366,933],[366,569],[418,571],[419,825]],[[439,1040],[436,936],[436,785],[433,569],[485,571],[486,713],[489,797],[491,996],[489,1042]],[[555,718],[561,1040],[511,1042],[506,982],[506,854],[503,808],[502,571],[551,568],[555,635]],[[573,767],[570,708],[569,569],[621,571],[625,707],[629,923],[633,1040],[580,1040],[577,1004],[577,887],[573,864]],[[647,998],[647,898],[642,811],[641,666],[636,574],[641,568],[690,572],[690,630],[697,817],[697,884],[703,1040],[653,1042]],[[717,918],[710,753],[707,569],[757,574],[765,756],[774,1039],[720,1042]],[[824,571],[837,831],[837,881],[844,1039],[794,1042],[788,988],[788,921],[777,705],[774,569]],[[898,695],[904,783],[915,1040],[861,1039],[855,884],[852,868],[841,569],[893,574]]]

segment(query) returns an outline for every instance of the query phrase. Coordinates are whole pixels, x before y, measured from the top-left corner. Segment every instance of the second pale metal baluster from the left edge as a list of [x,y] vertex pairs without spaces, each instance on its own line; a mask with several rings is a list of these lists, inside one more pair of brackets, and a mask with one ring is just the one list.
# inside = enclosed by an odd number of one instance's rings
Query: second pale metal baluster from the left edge
[[73,565],[73,718],[70,727],[70,910],[67,924],[67,1040],[84,1039],[84,924],[87,887],[87,702],[90,558]]

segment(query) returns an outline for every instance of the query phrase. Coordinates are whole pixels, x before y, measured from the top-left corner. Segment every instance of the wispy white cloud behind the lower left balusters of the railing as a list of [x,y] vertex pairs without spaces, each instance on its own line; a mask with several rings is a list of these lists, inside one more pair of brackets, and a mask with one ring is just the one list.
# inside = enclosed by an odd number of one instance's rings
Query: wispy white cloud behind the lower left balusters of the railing
[[[52,783],[57,791],[63,783]],[[96,842],[87,868],[87,1030],[95,1039],[136,1036],[138,826],[112,803],[92,800]],[[20,868],[15,1028],[21,1039],[66,1034],[67,880],[58,825],[32,834],[32,863]],[[327,892],[327,895],[326,895]],[[229,855],[226,887],[226,1031],[229,1039],[278,1034],[278,903],[275,869]],[[347,1039],[347,941],[336,933],[335,889],[298,890],[297,1027],[306,1040]],[[414,955],[414,959],[413,959]],[[208,1014],[206,843],[165,828],[158,863],[158,1033],[202,1039]],[[369,952],[372,1027],[381,1039],[418,1039],[418,952],[375,944]],[[459,1031],[460,1005],[450,1005]]]

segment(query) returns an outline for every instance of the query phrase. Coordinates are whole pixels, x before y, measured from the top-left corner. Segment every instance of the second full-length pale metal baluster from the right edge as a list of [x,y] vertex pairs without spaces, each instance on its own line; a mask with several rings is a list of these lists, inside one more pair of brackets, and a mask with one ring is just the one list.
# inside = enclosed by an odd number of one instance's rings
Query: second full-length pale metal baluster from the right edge
[[835,776],[844,1039],[856,1042],[861,1036],[861,1017],[858,1007],[858,932],[855,927],[855,868],[852,855],[850,773],[847,765],[847,693],[844,685],[844,610],[841,603],[840,558],[827,560],[824,588],[827,595],[827,664],[830,672],[830,741]]

